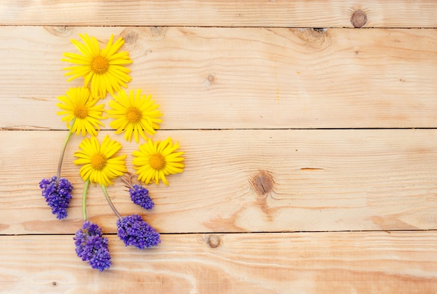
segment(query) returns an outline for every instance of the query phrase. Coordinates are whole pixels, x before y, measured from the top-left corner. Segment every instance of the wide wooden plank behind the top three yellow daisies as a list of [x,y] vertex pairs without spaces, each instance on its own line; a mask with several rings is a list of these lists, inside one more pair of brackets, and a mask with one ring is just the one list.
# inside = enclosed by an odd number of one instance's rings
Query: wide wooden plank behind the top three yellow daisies
[[[124,36],[164,129],[436,127],[430,29],[0,27],[0,128],[65,129],[70,38]],[[193,54],[195,52],[195,54]],[[109,100],[109,98],[107,98]]]

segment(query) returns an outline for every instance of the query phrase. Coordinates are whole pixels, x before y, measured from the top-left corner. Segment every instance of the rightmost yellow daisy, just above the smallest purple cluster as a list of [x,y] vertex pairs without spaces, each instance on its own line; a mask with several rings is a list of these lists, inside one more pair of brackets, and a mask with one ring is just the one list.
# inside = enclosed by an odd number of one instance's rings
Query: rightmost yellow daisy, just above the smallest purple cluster
[[152,181],[158,184],[159,180],[163,180],[165,185],[168,181],[165,176],[174,173],[182,173],[184,170],[184,157],[180,155],[183,152],[175,152],[179,148],[179,143],[173,145],[172,139],[168,138],[165,141],[157,141],[153,143],[151,139],[147,143],[140,145],[140,150],[134,151],[132,154],[133,164],[137,169],[138,180],[149,184]]

